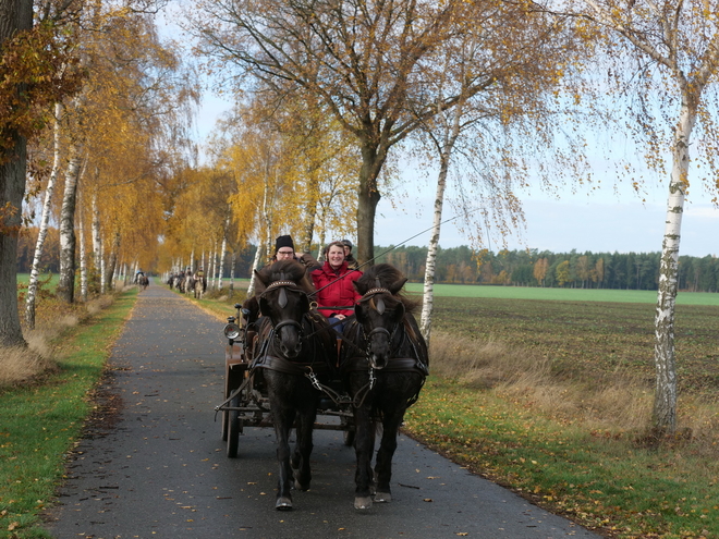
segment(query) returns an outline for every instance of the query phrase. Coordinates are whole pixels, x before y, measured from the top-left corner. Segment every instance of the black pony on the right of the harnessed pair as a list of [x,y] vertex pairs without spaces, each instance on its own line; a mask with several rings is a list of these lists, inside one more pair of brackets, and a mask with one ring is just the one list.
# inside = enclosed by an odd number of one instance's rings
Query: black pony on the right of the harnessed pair
[[[428,375],[427,344],[413,316],[417,303],[400,295],[406,279],[389,264],[369,268],[356,282],[363,295],[355,305],[356,320],[344,329],[340,370],[353,397],[355,418],[354,506],[390,502],[392,455],[409,406],[416,402]],[[375,432],[382,425],[373,477]],[[376,485],[375,485],[376,480]]]

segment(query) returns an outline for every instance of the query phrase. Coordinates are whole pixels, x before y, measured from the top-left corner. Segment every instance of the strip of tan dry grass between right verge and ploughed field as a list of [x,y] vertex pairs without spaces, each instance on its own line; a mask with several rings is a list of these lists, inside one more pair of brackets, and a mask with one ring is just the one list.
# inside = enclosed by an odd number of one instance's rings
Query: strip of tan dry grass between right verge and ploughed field
[[[432,375],[535,409],[598,436],[635,439],[650,422],[654,388],[621,369],[587,383],[553,372],[550,362],[500,342],[478,342],[442,332],[430,342]],[[681,396],[678,425],[691,432],[704,452],[719,445],[719,406],[698,396]]]

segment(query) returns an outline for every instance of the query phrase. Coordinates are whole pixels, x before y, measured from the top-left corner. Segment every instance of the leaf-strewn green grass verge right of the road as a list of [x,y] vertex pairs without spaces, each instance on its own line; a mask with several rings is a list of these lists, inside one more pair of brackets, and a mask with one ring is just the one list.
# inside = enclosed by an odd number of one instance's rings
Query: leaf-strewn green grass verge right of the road
[[719,468],[692,444],[648,451],[432,377],[417,440],[538,505],[618,538],[719,537]]

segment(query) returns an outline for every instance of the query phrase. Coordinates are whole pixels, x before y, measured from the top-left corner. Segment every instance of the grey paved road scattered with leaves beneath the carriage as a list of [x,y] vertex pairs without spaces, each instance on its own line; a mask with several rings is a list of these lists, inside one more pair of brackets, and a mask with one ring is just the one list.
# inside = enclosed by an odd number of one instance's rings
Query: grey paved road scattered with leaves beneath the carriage
[[58,539],[597,538],[401,437],[389,504],[358,513],[354,452],[316,431],[314,478],[277,512],[275,434],[245,429],[227,458],[222,323],[153,283],[110,359],[105,399],[118,408],[77,448],[49,528]]

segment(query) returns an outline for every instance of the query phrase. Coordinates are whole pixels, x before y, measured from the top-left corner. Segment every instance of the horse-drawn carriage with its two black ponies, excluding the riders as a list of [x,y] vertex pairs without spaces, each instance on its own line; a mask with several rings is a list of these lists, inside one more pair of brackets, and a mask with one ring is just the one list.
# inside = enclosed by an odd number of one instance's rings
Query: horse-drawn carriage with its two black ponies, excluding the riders
[[[313,429],[343,430],[357,456],[355,507],[391,500],[391,461],[407,406],[428,373],[427,346],[400,294],[406,279],[389,265],[370,268],[356,282],[363,295],[354,320],[334,333],[312,303],[302,265],[278,261],[257,274],[263,292],[224,327],[222,439],[235,457],[245,427],[273,426],[280,474],[276,509],[291,510],[296,490],[309,488]],[[342,341],[338,355],[338,339]],[[321,420],[317,420],[317,418]],[[375,469],[377,424],[382,438]],[[290,430],[296,445],[291,452]]]

